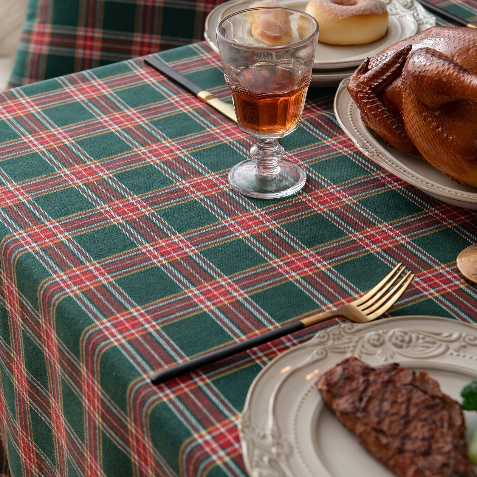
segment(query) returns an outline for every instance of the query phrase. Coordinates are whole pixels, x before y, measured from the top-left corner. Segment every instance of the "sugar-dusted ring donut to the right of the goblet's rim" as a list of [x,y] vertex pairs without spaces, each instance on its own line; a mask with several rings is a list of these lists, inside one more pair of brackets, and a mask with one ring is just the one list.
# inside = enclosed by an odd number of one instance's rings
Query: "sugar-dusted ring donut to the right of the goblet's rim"
[[388,12],[381,0],[311,0],[305,11],[320,25],[319,41],[360,45],[386,34]]

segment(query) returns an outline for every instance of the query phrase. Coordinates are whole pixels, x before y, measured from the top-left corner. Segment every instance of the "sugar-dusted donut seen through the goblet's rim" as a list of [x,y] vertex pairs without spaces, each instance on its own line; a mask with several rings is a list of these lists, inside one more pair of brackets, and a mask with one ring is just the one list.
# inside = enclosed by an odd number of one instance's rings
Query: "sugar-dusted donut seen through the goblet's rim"
[[[249,8],[281,7],[275,0],[261,0],[252,3]],[[255,38],[269,46],[287,45],[291,41],[292,31],[289,11],[250,11],[245,17],[252,28]]]

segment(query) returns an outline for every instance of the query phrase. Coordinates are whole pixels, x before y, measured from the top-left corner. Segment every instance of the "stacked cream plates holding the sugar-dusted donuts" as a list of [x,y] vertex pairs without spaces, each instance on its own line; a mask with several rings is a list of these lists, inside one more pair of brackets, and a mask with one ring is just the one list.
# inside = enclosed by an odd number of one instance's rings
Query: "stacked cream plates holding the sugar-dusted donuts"
[[[256,0],[230,0],[218,5],[207,15],[204,37],[216,53],[218,53],[218,46],[215,30],[218,22],[235,11],[248,8],[254,1]],[[364,45],[339,46],[318,42],[311,77],[312,86],[339,84],[342,79],[350,76],[367,57],[379,53],[396,41],[404,40],[436,25],[436,17],[414,0],[383,1],[389,13],[389,27],[386,35]],[[280,3],[284,7],[304,11],[308,2],[280,0]]]

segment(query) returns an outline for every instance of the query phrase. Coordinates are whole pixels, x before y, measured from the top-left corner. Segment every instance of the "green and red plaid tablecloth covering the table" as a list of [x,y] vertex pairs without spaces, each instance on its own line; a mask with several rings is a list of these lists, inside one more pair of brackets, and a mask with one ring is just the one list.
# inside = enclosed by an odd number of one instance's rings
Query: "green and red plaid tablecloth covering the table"
[[[161,56],[229,99],[206,43]],[[399,261],[416,278],[391,315],[476,320],[455,264],[476,212],[367,160],[333,93],[311,89],[281,141],[306,187],[268,201],[227,183],[252,139],[141,59],[1,94],[3,475],[245,476],[249,385],[317,328],[148,374],[352,301]]]

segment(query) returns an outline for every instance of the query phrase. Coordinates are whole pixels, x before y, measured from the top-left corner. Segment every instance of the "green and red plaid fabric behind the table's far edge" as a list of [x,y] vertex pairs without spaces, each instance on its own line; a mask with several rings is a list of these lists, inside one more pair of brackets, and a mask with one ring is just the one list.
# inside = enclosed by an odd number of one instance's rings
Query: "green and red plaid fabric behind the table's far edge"
[[10,87],[204,39],[224,0],[30,0]]

